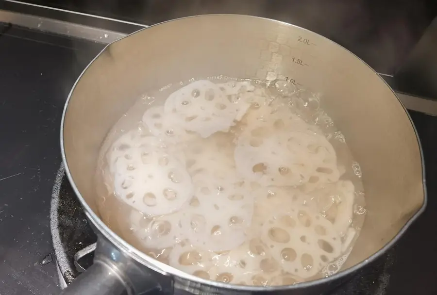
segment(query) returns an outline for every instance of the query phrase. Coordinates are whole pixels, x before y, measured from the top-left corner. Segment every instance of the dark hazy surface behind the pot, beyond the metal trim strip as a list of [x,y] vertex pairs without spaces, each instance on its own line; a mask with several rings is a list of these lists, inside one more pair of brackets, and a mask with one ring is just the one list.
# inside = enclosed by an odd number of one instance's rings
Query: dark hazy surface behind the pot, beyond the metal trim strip
[[326,36],[351,50],[378,72],[394,74],[432,20],[424,2],[108,0],[102,7],[98,1],[82,0],[75,10],[146,25],[203,14],[268,17]]

